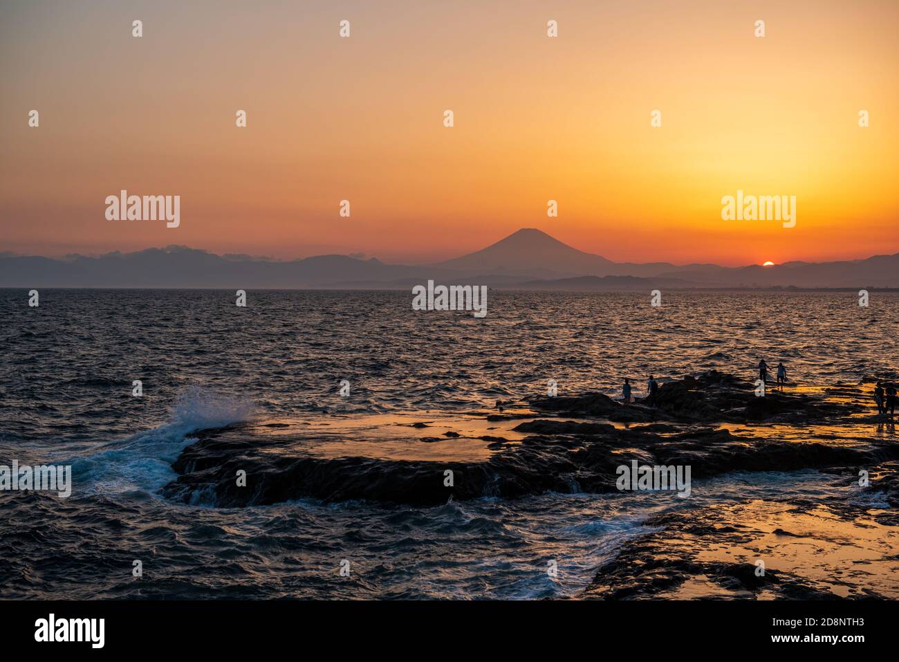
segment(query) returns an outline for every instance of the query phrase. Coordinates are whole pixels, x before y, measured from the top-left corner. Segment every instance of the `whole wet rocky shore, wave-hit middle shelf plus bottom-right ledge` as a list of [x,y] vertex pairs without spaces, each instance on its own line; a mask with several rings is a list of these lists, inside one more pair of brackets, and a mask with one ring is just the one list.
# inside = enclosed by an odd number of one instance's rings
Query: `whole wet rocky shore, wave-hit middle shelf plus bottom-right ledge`
[[869,381],[760,398],[751,381],[708,371],[664,383],[653,407],[589,393],[356,430],[340,421],[236,425],[196,434],[174,461],[179,478],[161,492],[218,507],[310,497],[443,505],[614,493],[617,470],[635,461],[689,466],[694,481],[817,470],[841,497],[804,496],[787,483],[770,501],[660,509],[582,597],[895,597],[899,443],[872,411]]

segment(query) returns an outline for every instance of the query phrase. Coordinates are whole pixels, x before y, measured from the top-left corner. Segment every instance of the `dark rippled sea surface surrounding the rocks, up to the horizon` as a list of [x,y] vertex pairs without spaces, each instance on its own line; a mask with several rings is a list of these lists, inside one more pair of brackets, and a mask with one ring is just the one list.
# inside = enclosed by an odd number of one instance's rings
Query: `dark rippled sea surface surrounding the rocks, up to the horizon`
[[559,395],[618,396],[629,377],[642,395],[649,374],[749,377],[762,357],[800,385],[896,368],[895,294],[868,308],[854,292],[663,297],[490,291],[477,319],[414,311],[400,291],[248,291],[238,308],[234,291],[48,289],[31,308],[27,291],[0,290],[0,464],[71,464],[74,483],[69,498],[0,492],[0,597],[569,597],[662,510],[849,498],[807,470],[694,481],[690,499],[228,509],[157,494],[203,428],[461,414],[545,394],[550,379]]

